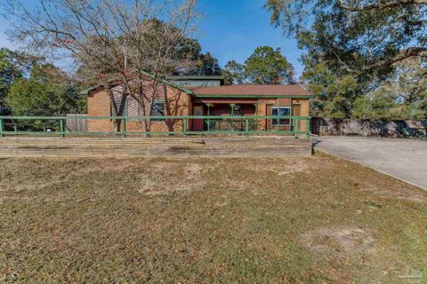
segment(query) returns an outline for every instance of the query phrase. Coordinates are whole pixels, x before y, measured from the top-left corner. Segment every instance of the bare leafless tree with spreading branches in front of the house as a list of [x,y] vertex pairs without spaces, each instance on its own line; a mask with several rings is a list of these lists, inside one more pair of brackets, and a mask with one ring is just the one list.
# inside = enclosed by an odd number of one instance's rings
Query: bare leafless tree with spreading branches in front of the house
[[[38,0],[34,7],[7,1],[12,41],[69,56],[83,82],[109,91],[115,116],[124,114],[129,97],[150,115],[161,79],[191,64],[181,51],[197,28],[197,0]],[[149,131],[149,121],[144,125]]]

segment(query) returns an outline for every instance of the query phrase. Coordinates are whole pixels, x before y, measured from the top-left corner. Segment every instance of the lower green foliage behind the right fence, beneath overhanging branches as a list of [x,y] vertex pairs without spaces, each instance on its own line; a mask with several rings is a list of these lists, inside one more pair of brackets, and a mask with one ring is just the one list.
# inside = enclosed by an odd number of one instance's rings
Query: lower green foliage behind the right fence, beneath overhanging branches
[[360,119],[425,119],[427,68],[421,59],[401,61],[385,81],[363,82],[357,75],[340,75],[326,62],[303,56],[302,83],[316,96],[314,116]]

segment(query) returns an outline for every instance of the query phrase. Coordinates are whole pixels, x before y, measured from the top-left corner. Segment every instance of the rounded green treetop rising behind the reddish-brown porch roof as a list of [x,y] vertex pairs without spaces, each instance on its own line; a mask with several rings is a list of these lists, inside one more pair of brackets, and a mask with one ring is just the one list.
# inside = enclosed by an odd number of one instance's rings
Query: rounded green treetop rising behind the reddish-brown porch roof
[[288,84],[294,83],[294,67],[282,55],[280,48],[257,47],[245,61],[245,75],[249,83]]

